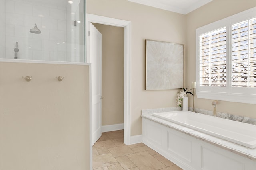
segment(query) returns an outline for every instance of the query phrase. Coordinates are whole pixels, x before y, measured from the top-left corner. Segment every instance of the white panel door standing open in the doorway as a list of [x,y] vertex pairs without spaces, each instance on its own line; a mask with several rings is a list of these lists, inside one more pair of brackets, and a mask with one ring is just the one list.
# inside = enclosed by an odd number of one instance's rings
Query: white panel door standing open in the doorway
[[92,145],[101,137],[102,34],[89,23],[88,63],[92,70]]

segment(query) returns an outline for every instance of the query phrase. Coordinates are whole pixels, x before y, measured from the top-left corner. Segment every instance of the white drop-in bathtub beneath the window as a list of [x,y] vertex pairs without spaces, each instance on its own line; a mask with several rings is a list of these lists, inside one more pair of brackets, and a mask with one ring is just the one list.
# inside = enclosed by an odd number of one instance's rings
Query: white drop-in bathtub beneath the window
[[245,147],[256,148],[255,125],[190,111],[154,113],[153,116]]

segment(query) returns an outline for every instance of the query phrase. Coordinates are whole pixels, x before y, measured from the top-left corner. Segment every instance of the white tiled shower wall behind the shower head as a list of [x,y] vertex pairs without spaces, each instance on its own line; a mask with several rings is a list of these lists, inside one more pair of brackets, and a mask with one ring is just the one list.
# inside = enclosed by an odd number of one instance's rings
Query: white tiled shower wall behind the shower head
[[[68,61],[66,59],[68,3],[64,4],[60,0],[5,0],[5,3],[2,1],[1,6],[3,4],[5,54],[1,52],[1,58],[14,59],[15,43],[18,42],[20,50],[18,59]],[[34,28],[35,23],[41,34],[29,32]],[[2,36],[1,34],[1,39]],[[2,47],[1,42],[1,51]]]

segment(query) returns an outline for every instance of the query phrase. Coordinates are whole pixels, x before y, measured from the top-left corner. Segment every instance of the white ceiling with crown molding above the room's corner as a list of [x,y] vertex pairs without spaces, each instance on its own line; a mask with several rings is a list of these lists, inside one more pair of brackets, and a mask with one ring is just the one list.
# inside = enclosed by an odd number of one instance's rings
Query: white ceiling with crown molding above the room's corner
[[211,2],[212,0],[128,0],[139,4],[160,8],[180,14],[189,12]]

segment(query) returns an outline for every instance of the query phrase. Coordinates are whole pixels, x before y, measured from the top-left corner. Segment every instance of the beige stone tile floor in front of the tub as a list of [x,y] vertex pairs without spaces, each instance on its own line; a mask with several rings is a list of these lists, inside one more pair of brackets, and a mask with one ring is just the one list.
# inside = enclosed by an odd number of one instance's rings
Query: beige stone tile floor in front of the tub
[[93,145],[94,170],[182,170],[144,143],[124,144],[124,131],[102,133]]

